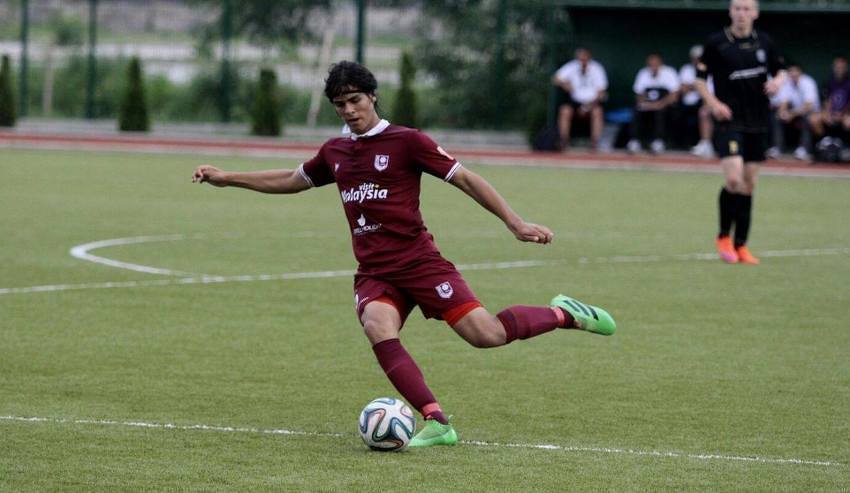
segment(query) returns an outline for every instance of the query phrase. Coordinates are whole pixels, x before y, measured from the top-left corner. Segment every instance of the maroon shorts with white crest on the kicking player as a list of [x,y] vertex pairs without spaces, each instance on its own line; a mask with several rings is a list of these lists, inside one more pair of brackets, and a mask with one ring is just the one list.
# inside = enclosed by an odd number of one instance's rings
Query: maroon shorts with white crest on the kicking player
[[[401,272],[374,275],[358,272],[354,275],[354,304],[358,319],[363,317],[366,305],[379,298],[392,302],[401,315],[402,324],[416,305],[425,318],[438,320],[448,319],[444,314],[455,308],[464,311],[462,306],[471,307],[465,310],[468,313],[472,308],[481,306],[454,264],[442,257],[429,259]],[[457,314],[458,311],[452,313]],[[450,324],[455,322],[447,321]]]

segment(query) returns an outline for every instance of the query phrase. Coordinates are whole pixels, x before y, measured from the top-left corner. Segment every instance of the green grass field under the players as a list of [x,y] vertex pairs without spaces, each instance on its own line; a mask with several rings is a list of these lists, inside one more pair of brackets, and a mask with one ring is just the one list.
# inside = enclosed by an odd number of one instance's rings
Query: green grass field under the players
[[[751,267],[687,255],[712,250],[717,176],[475,167],[556,232],[545,247],[425,178],[423,213],[448,258],[540,262],[467,270],[491,311],[564,292],[609,309],[619,332],[480,350],[417,311],[403,341],[467,442],[381,454],[356,420],[395,391],[360,333],[350,276],[280,276],[355,267],[335,189],[191,185],[198,163],[0,151],[0,490],[850,484],[848,180],[764,177],[751,245],[765,256]],[[69,255],[141,236],[89,253],[178,275]],[[179,281],[202,274],[223,277]],[[54,290],[10,289],[34,286]]]

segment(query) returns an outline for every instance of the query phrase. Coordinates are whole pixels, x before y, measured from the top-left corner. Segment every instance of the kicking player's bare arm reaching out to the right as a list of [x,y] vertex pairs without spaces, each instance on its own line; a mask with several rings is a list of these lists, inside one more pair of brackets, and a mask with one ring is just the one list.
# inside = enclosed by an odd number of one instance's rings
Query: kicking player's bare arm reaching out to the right
[[544,244],[552,241],[554,234],[549,228],[523,221],[499,192],[478,174],[460,167],[449,182],[501,219],[518,240]]

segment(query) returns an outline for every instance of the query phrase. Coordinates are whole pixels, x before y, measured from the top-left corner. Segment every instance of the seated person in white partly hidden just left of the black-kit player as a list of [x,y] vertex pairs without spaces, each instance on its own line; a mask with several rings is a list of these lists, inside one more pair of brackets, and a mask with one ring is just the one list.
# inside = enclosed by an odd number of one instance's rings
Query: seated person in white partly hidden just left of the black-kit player
[[[679,115],[678,127],[687,132],[687,137],[681,139],[686,145],[693,143],[691,137],[691,128],[696,122],[698,129],[699,142],[691,148],[691,154],[704,158],[714,156],[714,149],[711,144],[711,132],[714,128],[714,122],[711,120],[711,111],[703,104],[702,97],[699,91],[696,90],[695,83],[697,78],[696,66],[699,63],[699,57],[702,56],[702,46],[694,45],[689,53],[691,61],[682,65],[679,69],[679,81],[682,83],[681,92],[681,113]],[[709,82],[709,86],[711,82]]]

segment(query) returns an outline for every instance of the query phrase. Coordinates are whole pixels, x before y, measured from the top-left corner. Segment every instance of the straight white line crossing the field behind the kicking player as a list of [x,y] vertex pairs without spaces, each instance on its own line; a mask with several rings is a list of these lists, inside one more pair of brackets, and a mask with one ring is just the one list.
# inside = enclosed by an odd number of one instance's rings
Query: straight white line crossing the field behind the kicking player
[[[768,250],[760,252],[759,256],[770,257],[819,257],[825,255],[847,255],[850,248],[807,248],[798,250]],[[579,264],[588,263],[651,263],[662,261],[717,261],[715,253],[687,253],[677,255],[616,255],[612,257],[580,257],[575,260]],[[572,260],[519,260],[513,262],[483,262],[476,264],[458,264],[461,271],[469,270],[502,270],[523,269],[530,267],[544,267],[551,265],[566,265]],[[336,277],[350,277],[354,275],[353,270],[327,270],[315,272],[291,272],[284,274],[258,274],[239,276],[209,276],[184,277],[177,279],[149,279],[141,281],[107,281],[80,284],[48,284],[43,286],[26,286],[13,288],[0,288],[0,295],[5,294],[28,294],[45,293],[54,291],[76,291],[84,289],[117,289],[117,288],[141,288],[154,286],[174,286],[191,284],[223,284],[231,282],[257,282],[257,281],[291,281],[298,279],[327,279]]]

